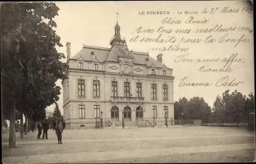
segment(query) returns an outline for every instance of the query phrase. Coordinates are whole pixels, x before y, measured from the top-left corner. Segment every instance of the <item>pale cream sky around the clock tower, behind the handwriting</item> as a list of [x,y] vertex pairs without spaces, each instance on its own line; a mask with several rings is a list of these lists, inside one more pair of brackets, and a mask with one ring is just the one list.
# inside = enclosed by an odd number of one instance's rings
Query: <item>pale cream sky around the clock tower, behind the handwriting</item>
[[[247,13],[242,13],[242,8],[246,3],[242,1],[200,1],[200,2],[186,2],[186,1],[158,1],[158,2],[55,2],[58,8],[58,16],[54,18],[57,23],[56,33],[61,38],[63,47],[56,47],[59,52],[66,53],[66,43],[71,42],[71,57],[81,50],[82,45],[99,46],[111,48],[110,39],[114,35],[114,26],[116,21],[121,27],[121,37],[125,37],[127,46],[130,50],[147,52],[151,57],[156,59],[157,54],[163,54],[163,63],[173,69],[174,79],[174,100],[180,97],[192,98],[194,96],[204,97],[205,101],[212,106],[217,95],[222,95],[225,90],[238,90],[239,92],[248,95],[254,92],[254,59],[253,59],[253,33],[232,31],[227,33],[189,33],[189,34],[176,34],[176,33],[161,33],[162,38],[175,37],[177,42],[181,38],[186,39],[186,43],[181,42],[181,47],[189,47],[186,52],[180,51],[154,51],[152,47],[168,47],[172,43],[149,43],[149,42],[131,42],[133,37],[137,35],[140,38],[152,37],[157,38],[159,33],[137,33],[136,29],[140,26],[143,29],[159,29],[160,26],[164,29],[200,29],[210,28],[215,25],[222,24],[226,27],[239,27],[249,26],[252,27],[252,16]],[[226,13],[218,13],[226,7]],[[211,8],[218,8],[214,14],[205,13]],[[231,10],[232,9],[232,10]],[[239,12],[235,12],[239,9]],[[145,12],[143,15],[142,12]],[[152,14],[150,14],[150,11]],[[153,11],[168,11],[169,15],[153,14]],[[178,14],[182,12],[182,14]],[[184,14],[185,11],[197,12],[198,14]],[[229,11],[229,13],[227,12]],[[117,14],[118,18],[117,18]],[[147,14],[148,13],[148,14]],[[189,17],[193,16],[194,20],[208,20],[207,23],[195,24],[185,23]],[[181,20],[181,24],[164,23],[165,18],[172,20]],[[239,39],[243,36],[244,42],[236,43],[224,42],[219,43],[220,38],[226,35],[224,39]],[[205,43],[205,39],[216,38],[214,43]],[[190,40],[189,40],[190,39]],[[200,43],[189,43],[191,40],[201,39]],[[248,41],[249,40],[249,41]],[[184,40],[183,40],[184,41]],[[209,41],[209,40],[208,40]],[[248,41],[248,42],[247,42]],[[221,62],[211,63],[195,63],[195,62],[177,62],[182,55],[193,59],[205,58],[230,58],[231,54],[238,53],[237,58],[243,58],[243,62],[232,62],[230,72],[199,72],[199,68],[207,66],[208,68],[223,68],[225,65]],[[179,58],[180,57],[180,58]],[[176,60],[176,62],[175,62]],[[66,62],[65,60],[62,60]],[[238,86],[216,86],[218,80],[228,76],[228,81],[231,82],[241,81]],[[184,79],[187,77],[186,79]],[[204,82],[212,83],[209,87],[179,87],[182,79],[187,82]],[[226,78],[225,78],[226,79]],[[56,83],[57,86],[61,85],[61,80]],[[62,90],[59,95],[60,99],[58,104],[62,112]],[[47,108],[48,111],[53,111],[54,105]]]

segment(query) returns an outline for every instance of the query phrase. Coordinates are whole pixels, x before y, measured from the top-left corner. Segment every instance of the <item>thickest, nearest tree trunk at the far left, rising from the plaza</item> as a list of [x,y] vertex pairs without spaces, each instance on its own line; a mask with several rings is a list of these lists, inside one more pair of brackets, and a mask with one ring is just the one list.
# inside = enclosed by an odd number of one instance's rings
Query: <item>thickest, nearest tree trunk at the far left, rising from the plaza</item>
[[9,129],[9,147],[10,148],[15,148],[16,147],[15,116],[16,116],[16,104],[14,102],[14,105],[11,108],[10,129]]

